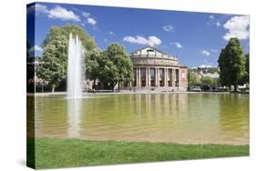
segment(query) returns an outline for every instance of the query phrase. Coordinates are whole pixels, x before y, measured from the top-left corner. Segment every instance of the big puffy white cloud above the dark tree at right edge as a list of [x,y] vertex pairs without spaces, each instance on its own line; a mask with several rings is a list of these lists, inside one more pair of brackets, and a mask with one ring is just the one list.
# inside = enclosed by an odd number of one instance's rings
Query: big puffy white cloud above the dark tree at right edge
[[228,20],[223,27],[228,30],[226,35],[223,35],[225,40],[230,40],[231,37],[239,39],[249,38],[249,15],[233,16]]

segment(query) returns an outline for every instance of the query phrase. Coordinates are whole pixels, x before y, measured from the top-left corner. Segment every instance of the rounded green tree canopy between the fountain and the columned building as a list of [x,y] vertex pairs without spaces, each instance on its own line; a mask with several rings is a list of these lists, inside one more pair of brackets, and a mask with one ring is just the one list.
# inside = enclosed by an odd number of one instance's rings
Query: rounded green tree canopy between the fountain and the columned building
[[123,45],[108,45],[106,51],[87,55],[87,76],[97,78],[111,89],[120,82],[132,81],[133,65]]

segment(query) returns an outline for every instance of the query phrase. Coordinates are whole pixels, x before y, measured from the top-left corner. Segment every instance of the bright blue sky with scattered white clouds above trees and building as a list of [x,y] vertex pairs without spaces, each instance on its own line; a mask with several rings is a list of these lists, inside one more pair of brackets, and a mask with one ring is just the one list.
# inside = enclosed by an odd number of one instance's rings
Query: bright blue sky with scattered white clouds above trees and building
[[138,8],[93,5],[36,3],[36,15],[28,7],[27,19],[36,17],[35,40],[33,25],[27,25],[27,39],[34,45],[30,51],[42,55],[42,43],[53,25],[77,24],[95,38],[100,49],[118,42],[128,54],[152,45],[176,55],[179,63],[192,66],[218,65],[221,48],[230,37],[238,37],[249,52],[249,16],[192,13]]

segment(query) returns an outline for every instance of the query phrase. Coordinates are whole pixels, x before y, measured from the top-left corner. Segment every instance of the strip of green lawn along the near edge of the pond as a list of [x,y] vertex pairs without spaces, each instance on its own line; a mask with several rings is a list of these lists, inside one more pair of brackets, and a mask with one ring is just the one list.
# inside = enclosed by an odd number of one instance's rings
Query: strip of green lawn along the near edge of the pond
[[[27,146],[31,147],[33,143],[33,139],[28,139]],[[36,138],[35,145],[37,169],[249,156],[249,146],[178,145],[48,138]],[[33,153],[33,151],[28,152],[28,164],[33,158]]]

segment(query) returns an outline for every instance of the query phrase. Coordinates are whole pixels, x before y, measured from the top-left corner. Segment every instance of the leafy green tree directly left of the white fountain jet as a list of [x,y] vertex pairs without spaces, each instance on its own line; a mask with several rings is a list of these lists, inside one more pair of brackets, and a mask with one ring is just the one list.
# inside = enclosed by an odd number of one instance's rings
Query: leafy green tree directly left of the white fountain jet
[[45,46],[41,65],[36,67],[36,75],[43,78],[55,91],[67,77],[67,37],[56,35]]

